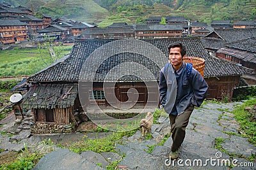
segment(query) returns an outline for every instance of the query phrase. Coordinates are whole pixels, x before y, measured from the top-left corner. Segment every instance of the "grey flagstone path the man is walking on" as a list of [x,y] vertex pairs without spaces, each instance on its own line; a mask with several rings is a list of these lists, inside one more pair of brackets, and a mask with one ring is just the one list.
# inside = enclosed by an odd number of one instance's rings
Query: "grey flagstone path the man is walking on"
[[[120,160],[116,169],[256,169],[255,161],[246,160],[256,154],[256,147],[240,137],[239,125],[228,112],[237,104],[241,103],[207,103],[195,109],[180,147],[180,157],[175,161],[168,160],[172,138],[157,145],[165,134],[170,134],[168,118],[160,117],[159,124],[152,126],[152,139],[141,139],[141,132],[137,131],[129,138],[125,136],[122,145],[116,145],[116,153],[86,151],[78,154],[56,148],[42,157],[33,169],[106,169],[114,160]],[[214,148],[218,140],[225,153]],[[153,145],[156,146],[152,152],[148,152]],[[235,166],[226,166],[228,162]],[[242,164],[247,167],[239,166]]]

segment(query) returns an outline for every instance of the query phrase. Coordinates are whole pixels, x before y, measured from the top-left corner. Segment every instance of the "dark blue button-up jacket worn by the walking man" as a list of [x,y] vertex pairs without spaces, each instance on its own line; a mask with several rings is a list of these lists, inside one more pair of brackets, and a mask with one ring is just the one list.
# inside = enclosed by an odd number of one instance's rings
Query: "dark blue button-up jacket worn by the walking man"
[[[183,62],[179,73],[179,81],[177,82],[174,69],[170,63],[164,66],[159,74],[159,92],[160,102],[164,106],[166,113],[171,114],[173,106],[177,108],[177,114],[184,113],[190,104],[193,106],[201,106],[203,103],[208,85],[201,74],[192,69],[191,76],[188,79],[186,75],[186,64]],[[175,115],[175,113],[173,113]]]

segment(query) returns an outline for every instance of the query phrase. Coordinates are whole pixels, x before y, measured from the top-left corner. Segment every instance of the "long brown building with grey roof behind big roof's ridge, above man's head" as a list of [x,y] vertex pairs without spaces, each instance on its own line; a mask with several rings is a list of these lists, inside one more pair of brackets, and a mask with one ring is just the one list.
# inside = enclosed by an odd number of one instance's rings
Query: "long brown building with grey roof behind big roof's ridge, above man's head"
[[182,37],[183,27],[180,24],[136,24],[134,31],[137,39],[157,39]]

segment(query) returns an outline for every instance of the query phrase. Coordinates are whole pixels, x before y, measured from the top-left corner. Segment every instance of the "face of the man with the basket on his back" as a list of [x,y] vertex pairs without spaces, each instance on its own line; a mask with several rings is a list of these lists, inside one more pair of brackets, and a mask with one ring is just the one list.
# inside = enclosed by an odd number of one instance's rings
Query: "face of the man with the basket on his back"
[[180,53],[179,47],[174,47],[170,49],[169,62],[172,64],[173,67],[180,67],[182,65],[182,55]]

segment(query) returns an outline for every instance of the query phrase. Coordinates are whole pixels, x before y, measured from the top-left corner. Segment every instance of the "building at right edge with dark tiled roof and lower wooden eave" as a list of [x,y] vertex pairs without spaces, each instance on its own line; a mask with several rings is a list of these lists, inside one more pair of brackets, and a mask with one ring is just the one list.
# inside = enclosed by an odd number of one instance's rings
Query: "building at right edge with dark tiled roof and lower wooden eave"
[[231,60],[255,70],[256,73],[256,37],[225,43],[224,47],[216,52],[216,57]]

